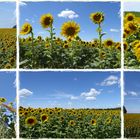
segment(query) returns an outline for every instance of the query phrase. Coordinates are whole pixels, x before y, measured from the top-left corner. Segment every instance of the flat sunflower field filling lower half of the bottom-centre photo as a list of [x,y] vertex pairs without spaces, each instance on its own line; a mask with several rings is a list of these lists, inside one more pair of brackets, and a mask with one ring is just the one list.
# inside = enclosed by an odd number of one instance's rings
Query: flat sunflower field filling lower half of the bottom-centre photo
[[120,138],[120,109],[19,108],[21,138]]

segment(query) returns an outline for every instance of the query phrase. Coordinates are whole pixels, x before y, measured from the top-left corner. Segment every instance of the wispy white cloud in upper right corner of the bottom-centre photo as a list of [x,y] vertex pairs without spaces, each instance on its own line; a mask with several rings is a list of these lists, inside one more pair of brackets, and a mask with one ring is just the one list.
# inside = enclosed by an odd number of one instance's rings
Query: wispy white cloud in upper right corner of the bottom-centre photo
[[112,86],[115,84],[119,84],[120,80],[117,76],[114,75],[110,75],[109,77],[107,77],[102,83],[101,86]]

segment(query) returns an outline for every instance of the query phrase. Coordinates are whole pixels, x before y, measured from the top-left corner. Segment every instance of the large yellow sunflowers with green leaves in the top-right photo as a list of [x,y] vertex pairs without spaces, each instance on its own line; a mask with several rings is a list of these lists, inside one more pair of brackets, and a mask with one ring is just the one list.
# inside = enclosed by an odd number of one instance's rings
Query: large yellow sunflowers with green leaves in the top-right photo
[[124,13],[124,65],[125,68],[140,68],[140,13]]

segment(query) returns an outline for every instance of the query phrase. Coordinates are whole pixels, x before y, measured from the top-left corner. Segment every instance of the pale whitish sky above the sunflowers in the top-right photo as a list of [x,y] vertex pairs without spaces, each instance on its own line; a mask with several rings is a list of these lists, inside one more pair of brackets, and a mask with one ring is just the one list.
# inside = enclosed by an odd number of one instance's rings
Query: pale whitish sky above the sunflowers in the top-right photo
[[140,12],[139,2],[125,2],[123,7],[124,7],[124,11]]

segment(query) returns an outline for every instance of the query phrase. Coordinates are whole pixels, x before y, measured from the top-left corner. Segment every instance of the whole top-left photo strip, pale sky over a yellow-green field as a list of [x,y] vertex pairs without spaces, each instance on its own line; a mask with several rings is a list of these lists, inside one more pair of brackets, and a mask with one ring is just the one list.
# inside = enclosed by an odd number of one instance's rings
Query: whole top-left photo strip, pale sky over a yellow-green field
[[0,69],[16,68],[16,2],[0,2]]

